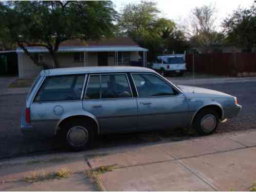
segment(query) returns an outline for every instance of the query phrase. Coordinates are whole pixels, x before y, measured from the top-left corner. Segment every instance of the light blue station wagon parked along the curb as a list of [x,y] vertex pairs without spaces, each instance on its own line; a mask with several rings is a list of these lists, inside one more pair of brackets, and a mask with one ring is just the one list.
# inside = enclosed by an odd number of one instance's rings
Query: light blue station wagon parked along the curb
[[192,126],[209,135],[241,108],[234,96],[176,86],[148,68],[51,69],[27,95],[21,131],[59,135],[72,150],[82,150],[105,133]]

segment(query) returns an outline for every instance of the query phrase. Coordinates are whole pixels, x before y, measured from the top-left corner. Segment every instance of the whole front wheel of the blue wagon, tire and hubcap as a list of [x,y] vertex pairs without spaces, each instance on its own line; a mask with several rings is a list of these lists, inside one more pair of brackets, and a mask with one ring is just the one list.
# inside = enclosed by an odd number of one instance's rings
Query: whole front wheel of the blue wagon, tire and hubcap
[[204,109],[196,114],[193,127],[199,135],[211,135],[218,126],[218,114],[213,109]]

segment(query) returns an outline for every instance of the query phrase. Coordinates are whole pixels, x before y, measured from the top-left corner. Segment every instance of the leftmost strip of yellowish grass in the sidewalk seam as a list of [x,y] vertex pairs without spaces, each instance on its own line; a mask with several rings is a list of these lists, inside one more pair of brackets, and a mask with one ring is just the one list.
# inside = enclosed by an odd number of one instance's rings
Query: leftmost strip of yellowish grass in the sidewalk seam
[[44,171],[33,172],[32,175],[27,176],[24,178],[24,181],[29,183],[39,182],[39,181],[46,181],[51,179],[64,179],[68,178],[71,175],[71,172],[67,168],[61,168],[58,172],[48,173],[46,174]]

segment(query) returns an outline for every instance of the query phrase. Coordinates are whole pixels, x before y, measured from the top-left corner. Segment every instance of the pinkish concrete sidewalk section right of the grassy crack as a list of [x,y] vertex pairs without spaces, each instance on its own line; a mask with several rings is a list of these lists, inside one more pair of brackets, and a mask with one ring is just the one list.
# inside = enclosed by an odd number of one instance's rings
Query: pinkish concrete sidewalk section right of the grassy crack
[[115,165],[106,190],[248,190],[256,181],[256,131],[142,147],[90,159]]

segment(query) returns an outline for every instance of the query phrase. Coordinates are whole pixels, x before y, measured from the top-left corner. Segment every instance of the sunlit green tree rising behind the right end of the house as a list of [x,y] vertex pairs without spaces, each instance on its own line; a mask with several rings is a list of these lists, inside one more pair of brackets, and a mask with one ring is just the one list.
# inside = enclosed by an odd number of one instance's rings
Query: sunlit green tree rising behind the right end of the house
[[172,20],[159,18],[159,13],[155,2],[141,1],[126,5],[118,19],[119,34],[130,36],[141,47],[147,48],[149,61],[166,49],[176,51],[178,48],[179,51],[185,48],[182,47],[185,39],[183,33]]

